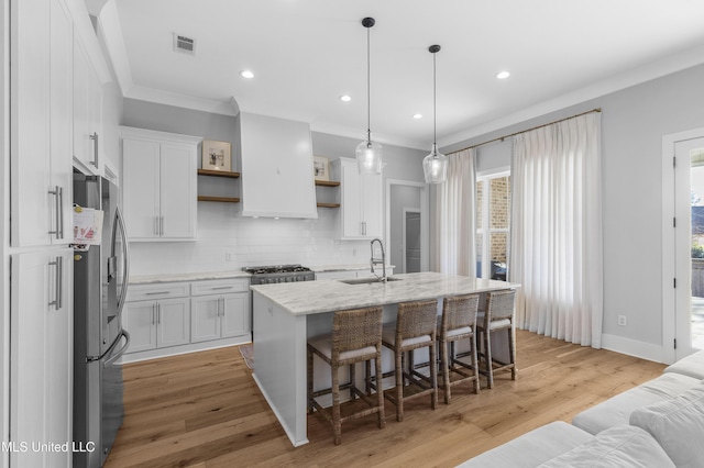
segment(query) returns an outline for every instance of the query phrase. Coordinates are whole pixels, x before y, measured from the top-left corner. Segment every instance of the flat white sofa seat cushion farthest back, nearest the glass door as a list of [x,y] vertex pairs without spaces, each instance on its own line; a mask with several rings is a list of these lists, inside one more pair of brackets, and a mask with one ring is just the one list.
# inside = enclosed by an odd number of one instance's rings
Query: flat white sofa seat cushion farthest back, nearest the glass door
[[572,424],[591,434],[598,434],[608,427],[628,424],[634,410],[671,400],[700,382],[680,374],[663,374],[581,412],[574,416]]

